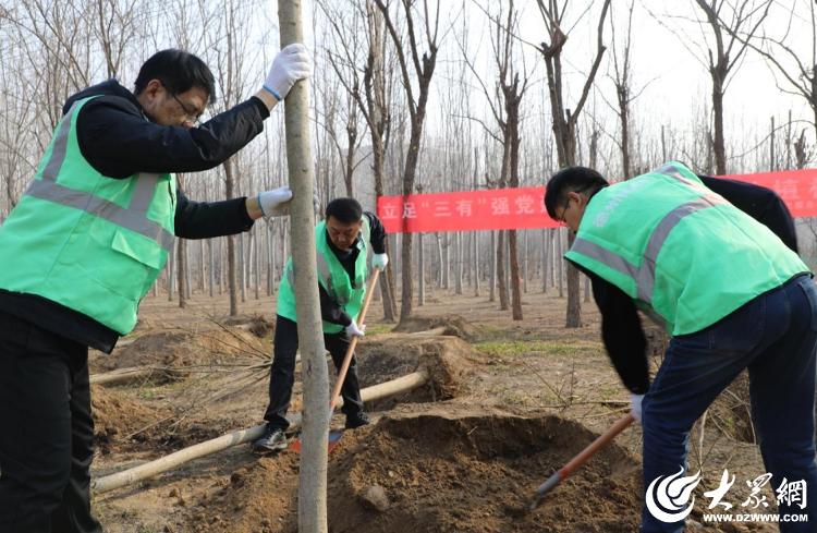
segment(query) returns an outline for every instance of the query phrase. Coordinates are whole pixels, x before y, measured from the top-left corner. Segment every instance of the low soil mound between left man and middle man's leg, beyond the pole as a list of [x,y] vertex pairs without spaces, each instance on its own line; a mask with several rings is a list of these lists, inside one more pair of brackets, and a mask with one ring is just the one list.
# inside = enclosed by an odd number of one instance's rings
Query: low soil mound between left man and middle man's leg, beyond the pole
[[[237,327],[203,331],[164,330],[145,334],[98,363],[107,370],[153,365],[179,371],[268,358],[268,350],[252,332]],[[170,376],[183,376],[182,372]]]

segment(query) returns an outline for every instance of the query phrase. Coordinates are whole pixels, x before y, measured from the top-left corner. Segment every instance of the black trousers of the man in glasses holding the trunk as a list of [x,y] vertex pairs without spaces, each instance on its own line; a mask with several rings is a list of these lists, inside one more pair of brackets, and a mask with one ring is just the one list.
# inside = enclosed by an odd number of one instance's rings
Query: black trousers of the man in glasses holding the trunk
[[99,533],[88,348],[0,313],[0,532]]

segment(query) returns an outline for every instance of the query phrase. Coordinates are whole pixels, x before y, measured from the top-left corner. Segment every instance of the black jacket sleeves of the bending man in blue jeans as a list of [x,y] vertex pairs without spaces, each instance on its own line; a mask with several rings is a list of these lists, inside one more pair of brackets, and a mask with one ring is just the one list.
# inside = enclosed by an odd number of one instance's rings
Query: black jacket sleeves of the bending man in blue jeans
[[[783,243],[797,251],[797,234],[785,204],[773,191],[740,181],[699,177],[757,221],[766,225]],[[590,278],[593,296],[601,313],[601,338],[615,371],[630,391],[643,395],[649,388],[647,342],[635,302],[621,289],[582,268]]]

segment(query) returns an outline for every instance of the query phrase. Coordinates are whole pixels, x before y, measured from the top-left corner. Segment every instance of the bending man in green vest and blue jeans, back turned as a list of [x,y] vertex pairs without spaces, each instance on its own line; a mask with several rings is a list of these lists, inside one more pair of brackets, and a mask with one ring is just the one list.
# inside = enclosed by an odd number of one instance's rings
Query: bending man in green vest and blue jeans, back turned
[[[614,185],[593,169],[563,169],[548,182],[545,204],[575,232],[565,258],[590,277],[599,307],[629,299],[671,335],[650,386],[639,328],[630,335],[641,352],[625,352],[627,340],[602,318],[605,344],[643,427],[642,531],[683,531],[692,505],[679,501],[672,482],[696,483],[679,479],[690,431],[744,368],[771,486],[817,486],[817,289],[797,254],[674,161]],[[710,474],[717,483],[720,473]],[[814,531],[817,507],[779,504],[781,531]],[[807,522],[786,521],[806,513]]]

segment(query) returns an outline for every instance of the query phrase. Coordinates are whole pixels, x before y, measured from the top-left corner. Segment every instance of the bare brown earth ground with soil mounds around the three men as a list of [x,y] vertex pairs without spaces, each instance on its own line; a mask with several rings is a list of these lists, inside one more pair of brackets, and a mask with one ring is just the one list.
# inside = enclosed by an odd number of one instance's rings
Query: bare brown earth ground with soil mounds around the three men
[[[329,456],[331,532],[637,530],[635,427],[538,510],[526,511],[536,486],[626,413],[629,395],[603,353],[594,304],[584,304],[584,327],[566,330],[564,299],[528,293],[524,301],[525,319],[514,323],[486,296],[438,290],[394,332],[373,304],[358,350],[362,385],[417,368],[428,370],[432,384],[367,405],[377,423],[346,432]],[[248,300],[237,320],[228,320],[225,308],[223,298],[194,298],[185,311],[148,298],[126,346],[92,355],[92,374],[153,370],[127,384],[94,386],[95,476],[261,422],[273,300]],[[412,335],[428,329],[435,335]],[[297,379],[293,412],[301,405]],[[744,441],[752,433],[740,390],[712,410],[705,427],[703,439],[698,431],[691,439],[691,465],[702,471],[706,489],[718,485],[724,468],[735,474],[737,507],[748,495],[745,480],[765,472],[754,445]],[[258,458],[237,446],[98,495],[95,509],[111,533],[292,533],[298,457]],[[698,520],[709,502],[702,493],[693,511]],[[749,524],[690,530],[775,531]]]

